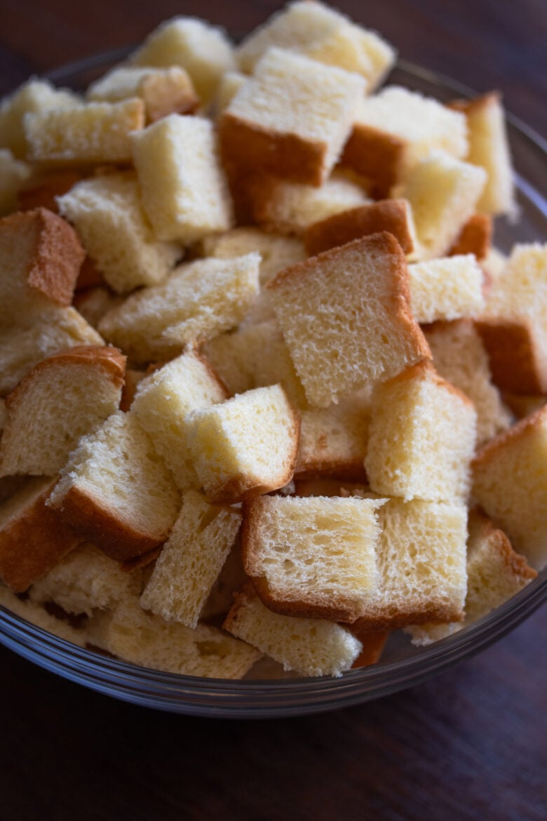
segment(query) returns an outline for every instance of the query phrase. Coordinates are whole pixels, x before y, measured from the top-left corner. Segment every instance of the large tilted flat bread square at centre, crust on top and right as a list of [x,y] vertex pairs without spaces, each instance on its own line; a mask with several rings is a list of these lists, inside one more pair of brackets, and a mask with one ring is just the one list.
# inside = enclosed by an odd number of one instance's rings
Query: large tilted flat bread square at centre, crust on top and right
[[267,287],[312,406],[327,407],[431,355],[410,312],[403,251],[390,234],[312,257]]

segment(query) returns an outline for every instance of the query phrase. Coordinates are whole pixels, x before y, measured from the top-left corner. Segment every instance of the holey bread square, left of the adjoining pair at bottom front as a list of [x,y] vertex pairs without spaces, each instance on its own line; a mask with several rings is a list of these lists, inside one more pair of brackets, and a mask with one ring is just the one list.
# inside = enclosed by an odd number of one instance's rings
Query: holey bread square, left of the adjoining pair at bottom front
[[382,500],[261,496],[244,505],[245,572],[285,616],[350,623],[376,593]]

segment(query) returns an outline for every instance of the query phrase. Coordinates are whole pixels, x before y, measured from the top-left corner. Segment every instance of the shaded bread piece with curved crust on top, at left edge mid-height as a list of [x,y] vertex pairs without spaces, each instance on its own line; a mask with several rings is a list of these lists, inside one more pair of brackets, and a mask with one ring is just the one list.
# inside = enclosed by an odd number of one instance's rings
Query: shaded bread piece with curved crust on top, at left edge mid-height
[[42,360],[6,399],[0,475],[54,476],[86,433],[120,406],[125,356],[80,346]]

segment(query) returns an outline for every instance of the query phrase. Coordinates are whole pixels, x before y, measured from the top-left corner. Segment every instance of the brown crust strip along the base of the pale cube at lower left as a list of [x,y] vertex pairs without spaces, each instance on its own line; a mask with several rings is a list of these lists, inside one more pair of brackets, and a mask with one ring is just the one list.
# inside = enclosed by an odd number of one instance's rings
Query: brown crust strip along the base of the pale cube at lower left
[[56,500],[55,510],[66,525],[118,562],[148,553],[163,544],[169,535],[168,530],[153,533],[134,527],[116,511],[108,510],[103,499],[93,498],[91,493],[75,485]]

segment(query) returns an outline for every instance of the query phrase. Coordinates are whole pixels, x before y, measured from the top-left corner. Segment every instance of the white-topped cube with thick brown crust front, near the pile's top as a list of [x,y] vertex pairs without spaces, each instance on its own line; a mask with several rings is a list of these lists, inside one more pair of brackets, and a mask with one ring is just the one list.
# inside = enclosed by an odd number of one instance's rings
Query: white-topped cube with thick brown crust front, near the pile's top
[[364,90],[356,74],[269,49],[222,114],[223,162],[320,186],[340,155]]

